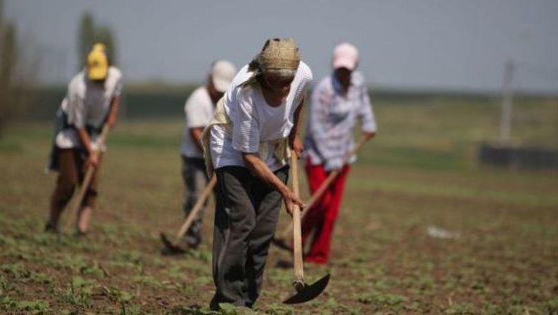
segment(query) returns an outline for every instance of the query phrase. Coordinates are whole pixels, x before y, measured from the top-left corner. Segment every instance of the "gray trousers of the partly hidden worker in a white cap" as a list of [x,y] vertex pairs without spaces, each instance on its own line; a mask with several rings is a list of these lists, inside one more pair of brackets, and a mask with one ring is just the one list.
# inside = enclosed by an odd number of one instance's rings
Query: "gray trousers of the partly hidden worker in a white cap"
[[[184,199],[182,202],[182,210],[184,216],[188,216],[190,211],[196,204],[201,191],[208,184],[208,175],[206,174],[206,163],[203,158],[187,158],[182,156],[182,180],[184,182]],[[201,242],[201,219],[203,218],[203,208],[199,211],[197,218],[192,222],[192,225],[184,234],[184,242],[186,244],[197,247]]]

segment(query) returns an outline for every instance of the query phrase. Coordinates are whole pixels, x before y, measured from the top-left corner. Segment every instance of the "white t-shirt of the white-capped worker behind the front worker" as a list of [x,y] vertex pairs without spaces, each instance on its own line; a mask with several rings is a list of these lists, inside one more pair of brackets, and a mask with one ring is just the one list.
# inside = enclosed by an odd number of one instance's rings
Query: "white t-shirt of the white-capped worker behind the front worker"
[[186,100],[184,113],[186,114],[186,127],[180,152],[186,158],[203,158],[203,155],[190,137],[190,128],[205,127],[210,122],[215,112],[215,105],[209,96],[208,89],[200,86]]

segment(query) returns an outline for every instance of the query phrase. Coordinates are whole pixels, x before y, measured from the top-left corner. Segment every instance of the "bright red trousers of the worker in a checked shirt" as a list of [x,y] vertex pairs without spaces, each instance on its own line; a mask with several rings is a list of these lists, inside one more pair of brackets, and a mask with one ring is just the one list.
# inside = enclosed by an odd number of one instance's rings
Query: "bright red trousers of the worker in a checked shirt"
[[[308,176],[308,184],[310,185],[310,193],[318,190],[321,183],[328,178],[329,173],[323,169],[323,165],[312,165],[310,160],[306,160],[306,175]],[[330,257],[331,236],[341,198],[343,197],[343,188],[345,187],[345,179],[349,172],[350,166],[345,165],[333,180],[330,187],[323,193],[314,207],[308,209],[308,213],[302,220],[302,242],[308,241],[308,238],[314,232],[310,251],[304,256],[307,262],[315,262],[317,264],[325,264]]]

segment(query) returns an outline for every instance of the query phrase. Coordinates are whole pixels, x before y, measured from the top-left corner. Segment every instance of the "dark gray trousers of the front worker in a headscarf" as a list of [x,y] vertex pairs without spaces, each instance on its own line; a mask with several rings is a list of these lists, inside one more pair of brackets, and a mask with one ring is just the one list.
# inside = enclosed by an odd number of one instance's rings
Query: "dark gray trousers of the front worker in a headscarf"
[[[252,307],[261,291],[283,198],[245,167],[225,166],[216,173],[212,262],[216,290],[210,307],[219,309],[219,303]],[[275,175],[287,182],[288,166]]]

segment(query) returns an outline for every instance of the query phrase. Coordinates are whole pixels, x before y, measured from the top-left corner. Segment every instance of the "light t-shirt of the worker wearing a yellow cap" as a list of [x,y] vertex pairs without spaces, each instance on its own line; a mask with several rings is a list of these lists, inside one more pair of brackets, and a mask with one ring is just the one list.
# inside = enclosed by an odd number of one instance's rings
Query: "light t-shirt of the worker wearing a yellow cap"
[[[70,84],[68,94],[63,99],[61,108],[68,115],[68,123],[76,128],[94,126],[100,128],[110,109],[112,99],[122,92],[122,73],[116,67],[108,68],[108,75],[103,85],[92,82],[86,70],[78,73]],[[96,137],[92,137],[93,145]],[[81,140],[74,128],[60,131],[55,140],[61,149],[81,146]],[[96,149],[96,148],[94,148]]]

